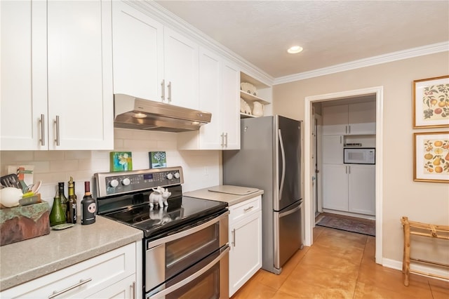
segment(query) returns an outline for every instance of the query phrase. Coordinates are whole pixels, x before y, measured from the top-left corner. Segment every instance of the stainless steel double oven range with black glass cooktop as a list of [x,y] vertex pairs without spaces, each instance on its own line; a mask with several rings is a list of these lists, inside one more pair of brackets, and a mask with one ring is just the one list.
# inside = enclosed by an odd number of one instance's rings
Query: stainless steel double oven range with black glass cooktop
[[[181,167],[95,173],[98,214],[143,231],[143,298],[228,298],[227,203],[182,196]],[[171,193],[149,206],[153,188]]]

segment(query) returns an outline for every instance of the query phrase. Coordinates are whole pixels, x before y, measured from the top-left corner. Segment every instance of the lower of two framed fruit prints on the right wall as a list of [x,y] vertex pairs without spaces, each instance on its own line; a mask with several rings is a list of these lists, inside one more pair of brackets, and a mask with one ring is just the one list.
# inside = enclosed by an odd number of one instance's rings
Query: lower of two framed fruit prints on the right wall
[[416,182],[449,182],[449,132],[414,133]]

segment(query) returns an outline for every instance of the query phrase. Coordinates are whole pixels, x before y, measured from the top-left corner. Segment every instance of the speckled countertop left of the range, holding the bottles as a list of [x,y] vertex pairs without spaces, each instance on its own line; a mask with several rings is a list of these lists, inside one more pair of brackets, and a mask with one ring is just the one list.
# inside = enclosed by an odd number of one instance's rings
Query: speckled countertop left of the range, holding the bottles
[[97,215],[95,223],[0,246],[0,290],[64,269],[143,238],[143,232]]

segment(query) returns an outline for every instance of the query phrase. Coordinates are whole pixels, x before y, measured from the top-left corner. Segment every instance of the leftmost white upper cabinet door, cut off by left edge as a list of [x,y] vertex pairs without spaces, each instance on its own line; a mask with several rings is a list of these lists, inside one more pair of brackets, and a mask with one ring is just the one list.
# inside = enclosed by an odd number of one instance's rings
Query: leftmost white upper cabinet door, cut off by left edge
[[45,150],[46,3],[0,1],[0,11],[0,150]]

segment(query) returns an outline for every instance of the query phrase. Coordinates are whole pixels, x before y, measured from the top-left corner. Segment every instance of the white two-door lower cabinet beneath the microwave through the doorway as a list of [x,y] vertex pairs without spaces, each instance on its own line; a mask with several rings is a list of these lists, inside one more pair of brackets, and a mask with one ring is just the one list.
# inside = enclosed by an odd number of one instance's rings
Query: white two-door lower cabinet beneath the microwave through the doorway
[[375,165],[323,164],[323,208],[375,215]]

